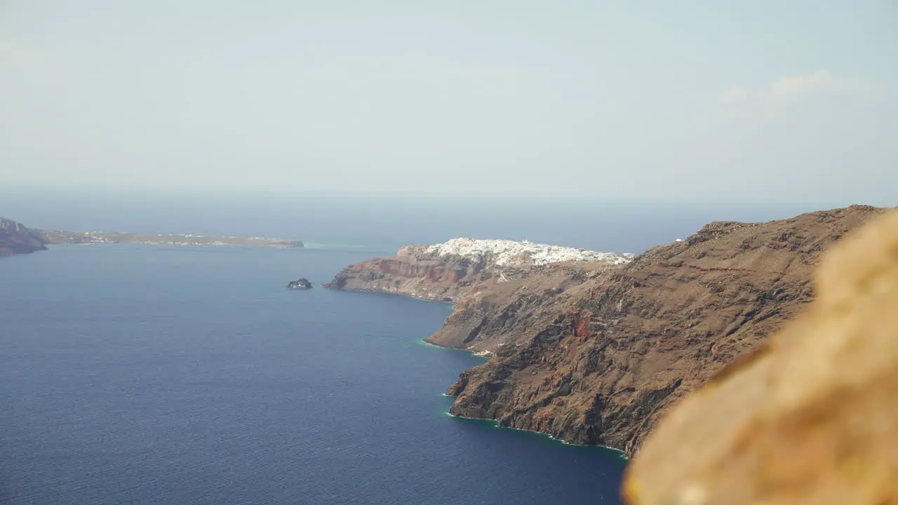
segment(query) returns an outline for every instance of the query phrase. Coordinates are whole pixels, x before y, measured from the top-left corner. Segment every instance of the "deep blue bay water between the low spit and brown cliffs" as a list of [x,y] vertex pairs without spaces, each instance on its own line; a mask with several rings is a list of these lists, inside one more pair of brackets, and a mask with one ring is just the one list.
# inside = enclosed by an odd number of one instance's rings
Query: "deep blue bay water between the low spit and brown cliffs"
[[618,503],[616,453],[446,415],[448,306],[283,287],[370,255],[0,260],[0,503]]

